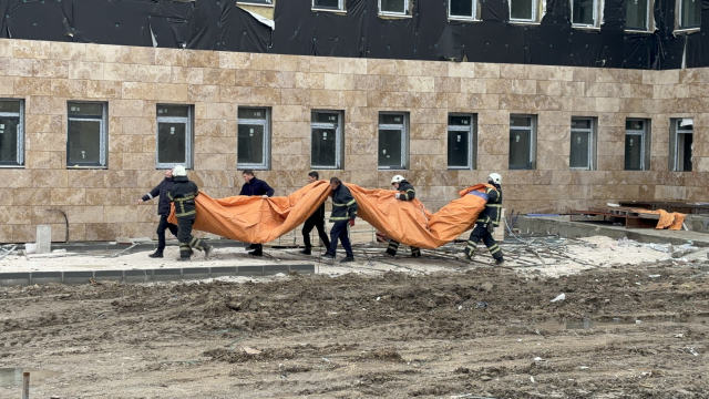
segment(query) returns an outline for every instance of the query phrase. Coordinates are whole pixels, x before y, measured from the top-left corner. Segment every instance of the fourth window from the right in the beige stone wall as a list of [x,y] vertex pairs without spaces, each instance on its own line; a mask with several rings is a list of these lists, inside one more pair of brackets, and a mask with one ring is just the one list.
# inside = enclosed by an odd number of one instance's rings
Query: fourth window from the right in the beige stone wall
[[510,168],[536,167],[535,116],[510,115]]

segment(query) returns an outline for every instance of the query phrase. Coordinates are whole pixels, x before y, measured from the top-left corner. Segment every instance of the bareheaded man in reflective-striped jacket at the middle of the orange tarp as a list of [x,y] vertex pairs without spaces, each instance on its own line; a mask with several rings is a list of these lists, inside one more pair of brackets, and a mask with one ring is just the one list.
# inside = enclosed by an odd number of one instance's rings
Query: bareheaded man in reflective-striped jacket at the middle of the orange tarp
[[330,248],[322,255],[326,259],[335,259],[337,239],[339,238],[347,256],[340,263],[354,262],[350,238],[347,235],[347,226],[354,226],[357,217],[357,201],[339,178],[330,178],[330,190],[332,190],[332,213],[330,223],[335,223],[330,228]]

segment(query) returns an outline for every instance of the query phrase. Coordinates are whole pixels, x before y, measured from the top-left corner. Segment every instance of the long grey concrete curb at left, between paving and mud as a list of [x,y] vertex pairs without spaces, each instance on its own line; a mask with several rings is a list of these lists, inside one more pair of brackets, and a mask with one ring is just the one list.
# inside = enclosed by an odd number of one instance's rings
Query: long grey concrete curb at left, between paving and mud
[[268,276],[279,273],[315,274],[315,265],[261,265],[175,267],[129,270],[68,270],[68,272],[18,272],[0,273],[0,287],[34,284],[86,284],[90,279],[117,283],[178,282],[225,276]]

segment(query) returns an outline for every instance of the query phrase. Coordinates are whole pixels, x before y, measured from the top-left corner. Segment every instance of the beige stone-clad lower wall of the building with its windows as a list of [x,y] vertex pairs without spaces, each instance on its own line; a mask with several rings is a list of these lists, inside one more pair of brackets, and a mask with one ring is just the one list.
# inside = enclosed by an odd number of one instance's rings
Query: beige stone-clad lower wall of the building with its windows
[[[405,73],[402,73],[405,71]],[[255,168],[404,175],[436,211],[503,176],[505,207],[706,202],[709,69],[624,70],[0,40],[0,242],[152,236],[162,168],[213,197]],[[693,149],[693,150],[692,150]]]

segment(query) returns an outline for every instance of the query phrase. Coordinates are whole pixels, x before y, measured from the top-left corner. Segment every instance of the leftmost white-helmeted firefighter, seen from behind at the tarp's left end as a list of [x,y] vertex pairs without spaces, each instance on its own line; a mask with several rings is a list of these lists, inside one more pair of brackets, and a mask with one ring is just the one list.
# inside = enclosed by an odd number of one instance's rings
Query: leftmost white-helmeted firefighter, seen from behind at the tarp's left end
[[195,224],[197,209],[195,198],[199,195],[199,190],[194,182],[187,178],[187,171],[184,166],[175,166],[173,170],[175,185],[167,194],[171,202],[175,203],[175,217],[177,217],[177,241],[179,241],[179,259],[189,260],[193,248],[204,250],[204,257],[209,257],[212,246],[203,239],[192,235],[192,225]]

